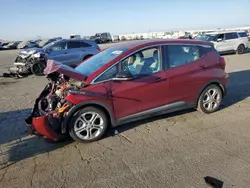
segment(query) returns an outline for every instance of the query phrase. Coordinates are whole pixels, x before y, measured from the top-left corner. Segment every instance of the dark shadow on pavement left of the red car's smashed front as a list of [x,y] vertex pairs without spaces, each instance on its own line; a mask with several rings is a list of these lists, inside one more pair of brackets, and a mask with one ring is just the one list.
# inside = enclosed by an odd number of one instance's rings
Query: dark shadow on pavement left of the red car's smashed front
[[50,152],[72,142],[48,142],[43,137],[30,136],[24,119],[31,109],[0,113],[0,170],[38,154]]

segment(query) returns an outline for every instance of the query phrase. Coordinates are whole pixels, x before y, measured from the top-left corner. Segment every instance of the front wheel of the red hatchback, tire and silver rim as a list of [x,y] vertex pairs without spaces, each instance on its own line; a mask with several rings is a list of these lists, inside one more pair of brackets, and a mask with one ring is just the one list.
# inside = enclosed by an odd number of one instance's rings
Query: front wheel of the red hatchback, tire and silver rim
[[96,107],[78,111],[69,123],[69,134],[78,142],[93,142],[101,139],[108,128],[106,114]]

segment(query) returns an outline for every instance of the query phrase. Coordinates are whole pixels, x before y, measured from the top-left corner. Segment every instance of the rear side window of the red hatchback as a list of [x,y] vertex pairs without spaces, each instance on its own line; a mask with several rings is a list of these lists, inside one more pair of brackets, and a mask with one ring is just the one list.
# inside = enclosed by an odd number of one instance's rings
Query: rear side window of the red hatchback
[[169,68],[179,67],[200,58],[200,52],[197,46],[169,45],[167,49]]

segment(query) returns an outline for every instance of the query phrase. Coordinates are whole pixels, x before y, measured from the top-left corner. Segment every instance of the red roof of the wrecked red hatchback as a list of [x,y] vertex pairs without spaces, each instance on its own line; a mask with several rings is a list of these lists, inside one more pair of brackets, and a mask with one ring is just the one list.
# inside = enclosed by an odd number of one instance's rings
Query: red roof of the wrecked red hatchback
[[199,44],[199,45],[211,45],[211,42],[200,41],[200,40],[191,40],[191,39],[148,39],[148,40],[136,40],[136,41],[128,41],[121,42],[118,44],[114,44],[113,47],[117,48],[136,48],[136,47],[144,47],[150,45],[162,45],[162,44]]

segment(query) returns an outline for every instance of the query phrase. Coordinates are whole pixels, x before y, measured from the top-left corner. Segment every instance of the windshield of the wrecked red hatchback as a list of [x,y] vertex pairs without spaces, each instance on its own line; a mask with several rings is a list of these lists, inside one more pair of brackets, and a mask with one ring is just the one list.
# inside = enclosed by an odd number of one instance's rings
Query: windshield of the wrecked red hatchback
[[108,48],[89,58],[84,63],[76,67],[75,70],[85,76],[89,76],[90,74],[101,68],[103,65],[107,64],[127,50],[128,48]]

